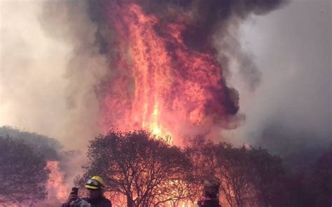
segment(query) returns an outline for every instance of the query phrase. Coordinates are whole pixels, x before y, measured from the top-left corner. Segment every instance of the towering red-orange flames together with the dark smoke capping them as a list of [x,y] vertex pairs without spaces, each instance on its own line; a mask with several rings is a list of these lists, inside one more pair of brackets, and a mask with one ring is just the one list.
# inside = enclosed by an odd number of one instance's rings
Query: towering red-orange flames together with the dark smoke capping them
[[[109,64],[98,92],[104,131],[145,129],[181,145],[184,136],[237,127],[243,116],[237,91],[226,82],[225,54],[239,44],[216,48],[214,41],[224,42],[251,13],[285,2],[90,1],[99,53]],[[251,70],[251,85],[258,74]]]

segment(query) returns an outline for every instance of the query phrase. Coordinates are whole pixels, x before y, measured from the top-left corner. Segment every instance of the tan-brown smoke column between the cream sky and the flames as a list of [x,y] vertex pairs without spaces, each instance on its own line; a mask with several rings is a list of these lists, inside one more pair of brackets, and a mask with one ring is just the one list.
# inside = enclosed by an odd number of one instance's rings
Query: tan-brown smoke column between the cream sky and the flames
[[64,74],[68,80],[66,106],[71,113],[67,136],[79,147],[101,132],[96,92],[109,73],[107,59],[95,45],[97,27],[86,14],[86,6],[85,1],[45,1],[39,16],[46,36],[71,45]]

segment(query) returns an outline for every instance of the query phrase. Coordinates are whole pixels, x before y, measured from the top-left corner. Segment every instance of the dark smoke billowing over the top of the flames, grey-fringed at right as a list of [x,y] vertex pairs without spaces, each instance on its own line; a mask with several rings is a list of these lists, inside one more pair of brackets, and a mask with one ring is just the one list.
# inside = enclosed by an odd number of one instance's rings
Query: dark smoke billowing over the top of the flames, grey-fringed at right
[[[261,82],[261,72],[248,51],[244,51],[239,39],[239,27],[251,15],[265,15],[277,8],[283,8],[289,0],[272,1],[230,1],[230,0],[125,0],[88,1],[88,13],[97,25],[96,43],[101,54],[111,53],[113,30],[106,24],[105,8],[111,3],[139,3],[144,11],[159,17],[161,24],[177,22],[179,16],[190,19],[183,32],[184,41],[193,50],[216,48],[219,62],[226,76],[230,75],[230,59],[239,64],[241,79],[250,90],[256,90]],[[111,55],[108,55],[111,59]]]

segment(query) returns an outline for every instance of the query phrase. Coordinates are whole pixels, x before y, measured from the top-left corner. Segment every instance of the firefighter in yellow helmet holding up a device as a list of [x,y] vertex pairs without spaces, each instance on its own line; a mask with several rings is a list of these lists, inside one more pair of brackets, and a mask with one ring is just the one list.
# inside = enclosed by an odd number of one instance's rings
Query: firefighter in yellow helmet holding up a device
[[77,190],[74,188],[69,194],[66,203],[62,207],[111,207],[111,201],[106,199],[103,194],[104,180],[99,176],[93,176],[85,183],[88,190],[87,198],[78,198]]

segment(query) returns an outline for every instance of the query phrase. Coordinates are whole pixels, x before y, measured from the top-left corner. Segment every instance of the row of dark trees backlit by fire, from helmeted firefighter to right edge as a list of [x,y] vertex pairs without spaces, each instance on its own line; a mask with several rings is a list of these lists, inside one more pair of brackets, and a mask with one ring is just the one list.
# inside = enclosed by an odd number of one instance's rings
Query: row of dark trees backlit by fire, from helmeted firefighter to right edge
[[214,178],[221,182],[223,206],[326,206],[331,203],[331,148],[310,171],[293,173],[262,148],[213,143],[205,136],[177,148],[146,131],[110,131],[90,142],[90,164],[76,183],[103,176],[107,194],[126,198],[121,206],[193,203],[202,196],[204,181]]

